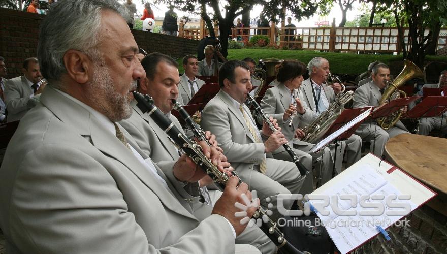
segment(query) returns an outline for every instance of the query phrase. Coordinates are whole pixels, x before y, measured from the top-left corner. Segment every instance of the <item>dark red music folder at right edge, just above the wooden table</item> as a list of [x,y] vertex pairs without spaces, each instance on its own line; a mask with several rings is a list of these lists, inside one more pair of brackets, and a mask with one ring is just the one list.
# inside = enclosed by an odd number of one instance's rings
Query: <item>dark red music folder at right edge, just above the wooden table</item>
[[402,118],[435,117],[445,111],[447,111],[447,96],[429,96],[405,113]]

